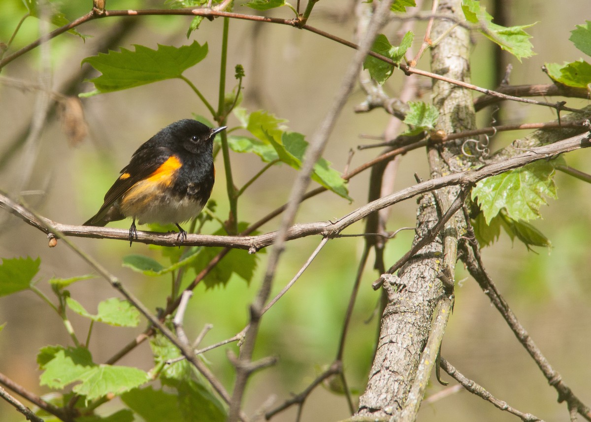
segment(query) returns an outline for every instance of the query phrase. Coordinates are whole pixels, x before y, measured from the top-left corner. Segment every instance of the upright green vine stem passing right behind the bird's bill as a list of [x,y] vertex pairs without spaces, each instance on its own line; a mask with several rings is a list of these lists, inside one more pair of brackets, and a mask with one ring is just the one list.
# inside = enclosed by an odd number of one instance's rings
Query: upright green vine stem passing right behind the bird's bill
[[[222,58],[220,60],[220,86],[219,86],[219,99],[217,103],[217,115],[216,121],[220,126],[226,124],[228,114],[226,113],[226,62],[228,59],[228,31],[229,31],[230,19],[223,18],[223,36],[222,36]],[[228,147],[228,135],[223,131],[221,134],[222,138],[222,155],[224,170],[226,173],[226,189],[228,190],[228,200],[230,202],[230,216],[228,219],[228,230],[229,234],[238,233],[238,194],[234,187],[234,181],[232,178],[232,167],[230,165],[230,149]]]

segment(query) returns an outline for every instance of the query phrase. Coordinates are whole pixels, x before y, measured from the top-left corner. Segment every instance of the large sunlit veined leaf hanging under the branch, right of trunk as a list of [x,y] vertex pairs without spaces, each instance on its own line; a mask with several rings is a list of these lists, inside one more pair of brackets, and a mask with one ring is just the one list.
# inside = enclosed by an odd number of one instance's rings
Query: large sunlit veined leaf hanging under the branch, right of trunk
[[554,165],[564,160],[545,161],[525,165],[506,171],[497,176],[480,180],[472,189],[472,199],[478,197],[478,204],[484,213],[486,223],[505,209],[513,220],[532,220],[540,217],[540,206],[546,204],[545,197],[556,198]]

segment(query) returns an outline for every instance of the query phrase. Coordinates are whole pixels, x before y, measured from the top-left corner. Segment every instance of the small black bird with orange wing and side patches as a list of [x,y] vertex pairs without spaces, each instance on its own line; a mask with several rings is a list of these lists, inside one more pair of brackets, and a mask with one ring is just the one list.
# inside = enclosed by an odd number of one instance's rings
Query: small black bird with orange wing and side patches
[[197,216],[212,194],[213,138],[224,129],[191,119],[166,126],[134,152],[105,194],[99,212],[84,225],[104,226],[131,217],[131,245],[138,238],[135,220],[174,223],[182,243],[187,232],[179,223]]

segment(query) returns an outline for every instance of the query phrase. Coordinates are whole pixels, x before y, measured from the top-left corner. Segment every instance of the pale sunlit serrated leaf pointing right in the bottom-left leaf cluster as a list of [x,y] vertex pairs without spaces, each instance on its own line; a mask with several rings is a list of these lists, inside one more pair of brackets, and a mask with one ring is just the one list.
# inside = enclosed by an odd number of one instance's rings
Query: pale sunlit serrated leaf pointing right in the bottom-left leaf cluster
[[86,396],[87,401],[107,394],[119,395],[150,381],[148,374],[131,366],[96,365],[77,376],[72,391]]

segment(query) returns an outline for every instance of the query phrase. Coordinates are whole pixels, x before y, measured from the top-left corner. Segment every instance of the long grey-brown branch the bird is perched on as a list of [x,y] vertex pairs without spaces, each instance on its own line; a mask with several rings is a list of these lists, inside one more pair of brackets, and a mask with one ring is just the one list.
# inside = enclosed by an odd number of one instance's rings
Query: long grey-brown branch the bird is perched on
[[[591,146],[589,142],[590,136],[591,134],[586,132],[571,138],[563,139],[562,141],[554,142],[553,144],[532,148],[523,154],[515,155],[515,157],[506,158],[496,163],[483,165],[476,170],[449,174],[447,176],[437,177],[417,183],[414,186],[407,187],[406,189],[402,189],[388,196],[384,196],[368,204],[365,204],[364,206],[359,207],[358,209],[346,216],[343,216],[335,222],[326,221],[293,225],[288,229],[287,239],[292,240],[311,235],[322,235],[328,238],[336,237],[344,229],[365,218],[371,213],[394,205],[403,200],[410,199],[419,194],[441,189],[442,187],[446,186],[465,186],[474,184],[483,178],[495,176],[496,174],[501,174],[505,171],[522,167],[523,165],[533,163],[537,160],[555,157],[556,155],[562,154],[563,152],[587,148]],[[47,233],[48,235],[51,235],[51,231],[47,229],[47,226],[52,226],[57,231],[63,233],[63,235],[66,236],[129,241],[129,231],[127,229],[74,226],[56,223],[43,217],[37,218],[37,216],[35,216],[34,213],[32,213],[26,207],[14,202],[7,195],[1,192],[0,207],[7,209],[8,212],[18,216],[26,223],[34,226],[44,233]],[[183,245],[226,246],[229,248],[248,249],[249,252],[254,253],[259,249],[271,245],[275,239],[275,235],[276,232],[269,232],[258,236],[212,236],[189,234],[187,235],[186,241],[183,242]],[[138,238],[136,241],[152,245],[178,246],[177,233],[138,231]]]

